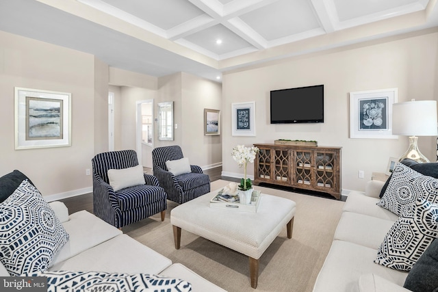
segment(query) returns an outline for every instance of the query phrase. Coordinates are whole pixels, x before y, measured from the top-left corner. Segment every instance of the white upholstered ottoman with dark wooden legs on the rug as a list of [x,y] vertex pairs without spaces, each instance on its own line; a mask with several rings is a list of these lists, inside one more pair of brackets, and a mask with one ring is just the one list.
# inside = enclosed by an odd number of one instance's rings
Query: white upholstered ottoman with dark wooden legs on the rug
[[285,198],[261,194],[257,213],[209,207],[218,191],[180,204],[170,211],[175,248],[181,244],[181,228],[249,257],[251,287],[257,287],[259,258],[286,226],[292,238],[296,204]]

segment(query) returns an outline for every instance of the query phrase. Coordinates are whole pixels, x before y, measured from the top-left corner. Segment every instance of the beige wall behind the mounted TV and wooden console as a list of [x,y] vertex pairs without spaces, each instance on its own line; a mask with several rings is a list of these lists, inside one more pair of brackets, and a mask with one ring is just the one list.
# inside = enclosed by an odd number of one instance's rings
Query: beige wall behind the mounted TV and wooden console
[[[342,146],[342,188],[363,190],[372,172],[385,172],[389,157],[399,157],[407,150],[408,138],[350,139],[348,93],[398,88],[399,102],[437,100],[437,44],[437,32],[391,38],[224,74],[222,173],[242,176],[243,170],[229,154],[237,144],[317,140],[319,145]],[[270,124],[270,90],[318,84],[324,84],[323,124]],[[256,102],[257,135],[233,137],[231,103],[246,101]],[[419,138],[420,149],[432,161],[436,160],[435,138]],[[358,178],[359,170],[365,171],[365,178]],[[248,173],[253,174],[253,165]]]

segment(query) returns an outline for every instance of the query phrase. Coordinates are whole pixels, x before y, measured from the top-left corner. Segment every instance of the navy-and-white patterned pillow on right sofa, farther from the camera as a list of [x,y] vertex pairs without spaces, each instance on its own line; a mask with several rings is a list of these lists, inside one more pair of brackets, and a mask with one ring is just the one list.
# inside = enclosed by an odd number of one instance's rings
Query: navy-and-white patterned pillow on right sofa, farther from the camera
[[400,216],[404,212],[410,213],[413,204],[420,198],[438,202],[438,179],[397,163],[385,194],[377,205]]

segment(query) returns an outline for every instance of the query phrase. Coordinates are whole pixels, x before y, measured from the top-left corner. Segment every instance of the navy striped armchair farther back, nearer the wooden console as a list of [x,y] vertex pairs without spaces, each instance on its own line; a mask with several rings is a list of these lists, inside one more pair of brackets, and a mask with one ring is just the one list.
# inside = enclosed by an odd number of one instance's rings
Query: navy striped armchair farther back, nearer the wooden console
[[179,146],[157,147],[152,150],[153,174],[166,190],[168,200],[179,204],[188,202],[210,191],[210,178],[198,165],[190,165],[192,172],[175,176],[166,167],[166,161],[183,158]]

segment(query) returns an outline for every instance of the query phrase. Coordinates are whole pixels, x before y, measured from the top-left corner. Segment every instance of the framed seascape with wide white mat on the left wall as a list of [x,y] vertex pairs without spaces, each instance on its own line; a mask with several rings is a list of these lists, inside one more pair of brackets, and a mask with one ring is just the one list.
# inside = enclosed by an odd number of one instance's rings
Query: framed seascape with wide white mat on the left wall
[[71,94],[15,88],[15,149],[71,146]]

